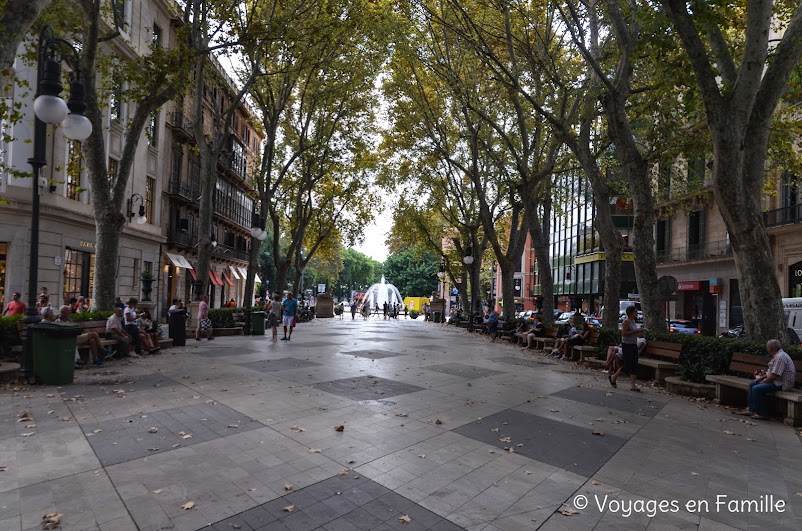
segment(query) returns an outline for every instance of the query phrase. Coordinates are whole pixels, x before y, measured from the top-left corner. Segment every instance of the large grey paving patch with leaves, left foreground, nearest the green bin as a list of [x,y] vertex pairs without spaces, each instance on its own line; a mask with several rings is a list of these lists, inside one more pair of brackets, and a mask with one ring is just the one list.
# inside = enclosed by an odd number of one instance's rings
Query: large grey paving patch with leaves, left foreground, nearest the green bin
[[[81,425],[103,466],[169,452],[173,445],[192,446],[262,427],[264,424],[219,403],[193,404]],[[150,428],[158,431],[149,433]]]

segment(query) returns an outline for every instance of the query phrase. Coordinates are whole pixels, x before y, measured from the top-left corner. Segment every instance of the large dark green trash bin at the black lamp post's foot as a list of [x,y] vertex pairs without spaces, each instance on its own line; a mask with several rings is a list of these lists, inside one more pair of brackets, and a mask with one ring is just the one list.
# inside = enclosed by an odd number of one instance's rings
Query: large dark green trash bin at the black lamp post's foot
[[81,326],[72,323],[39,323],[33,330],[33,374],[44,385],[72,383],[75,376],[75,338]]

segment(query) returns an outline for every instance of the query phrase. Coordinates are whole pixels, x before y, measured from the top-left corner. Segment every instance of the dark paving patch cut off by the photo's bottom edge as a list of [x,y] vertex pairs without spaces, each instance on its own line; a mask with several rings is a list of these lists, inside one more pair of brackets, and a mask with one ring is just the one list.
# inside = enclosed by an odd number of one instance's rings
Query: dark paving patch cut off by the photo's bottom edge
[[[293,512],[284,511],[294,506]],[[398,520],[412,518],[410,524]],[[459,531],[461,527],[369,479],[335,476],[281,498],[220,520],[212,529],[374,531],[424,529]]]

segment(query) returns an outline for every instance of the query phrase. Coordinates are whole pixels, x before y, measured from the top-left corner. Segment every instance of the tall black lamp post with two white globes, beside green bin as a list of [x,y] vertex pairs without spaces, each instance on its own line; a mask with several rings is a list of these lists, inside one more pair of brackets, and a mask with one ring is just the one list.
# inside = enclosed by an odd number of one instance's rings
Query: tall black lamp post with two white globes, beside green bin
[[[61,63],[66,61],[73,69],[70,76],[70,99],[61,99]],[[36,64],[36,96],[33,102],[33,156],[31,165],[31,248],[28,267],[28,308],[22,322],[25,323],[25,348],[20,367],[20,378],[28,383],[35,381],[33,374],[33,330],[41,321],[36,308],[36,285],[39,282],[39,195],[47,181],[42,168],[47,165],[47,125],[61,124],[61,131],[71,140],[86,140],[92,134],[92,123],[84,116],[84,86],[80,81],[80,59],[78,51],[68,41],[56,37],[53,27],[46,24],[39,33],[38,60]]]

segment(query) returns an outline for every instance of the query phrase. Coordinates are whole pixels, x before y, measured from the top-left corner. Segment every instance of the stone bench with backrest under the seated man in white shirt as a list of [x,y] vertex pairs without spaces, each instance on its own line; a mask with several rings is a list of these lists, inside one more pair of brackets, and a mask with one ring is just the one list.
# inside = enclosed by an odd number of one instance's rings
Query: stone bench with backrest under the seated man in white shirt
[[[766,370],[769,364],[768,356],[756,356],[743,352],[734,352],[728,370],[736,373],[749,374],[751,377],[743,378],[729,374],[708,374],[705,380],[715,384],[716,401],[725,406],[744,407],[749,395],[749,384],[754,381],[757,370]],[[802,362],[794,360],[796,366],[796,383],[802,383]],[[773,410],[782,414],[783,422],[789,426],[802,426],[802,390],[775,391]],[[784,407],[783,407],[784,406]]]

